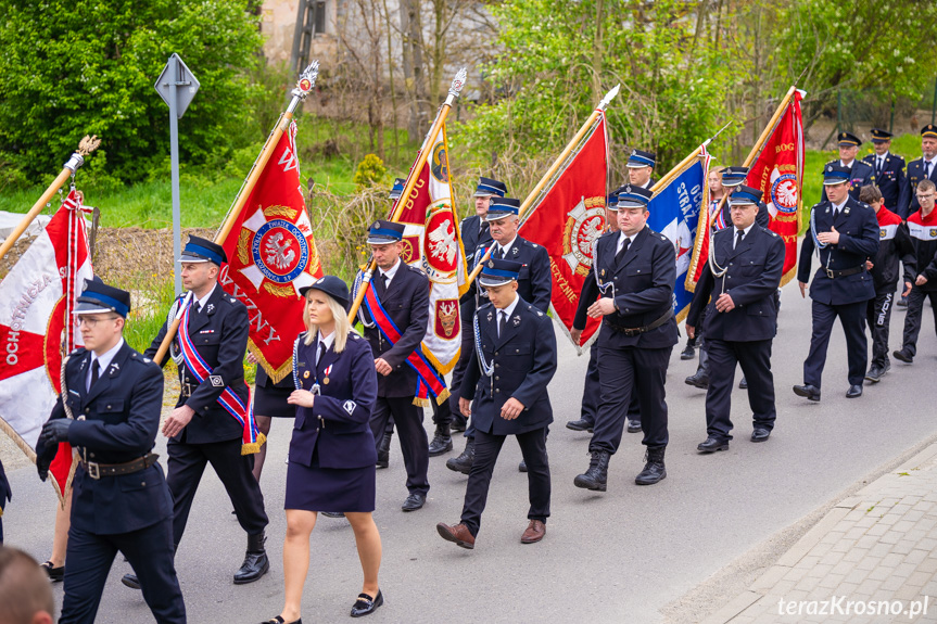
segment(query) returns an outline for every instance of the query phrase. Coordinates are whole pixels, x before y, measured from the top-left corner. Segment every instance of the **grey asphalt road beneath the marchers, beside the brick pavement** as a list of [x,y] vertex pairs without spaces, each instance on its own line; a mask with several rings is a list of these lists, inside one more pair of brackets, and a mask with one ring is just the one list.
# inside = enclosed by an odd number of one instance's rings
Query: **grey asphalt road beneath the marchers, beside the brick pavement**
[[[898,311],[892,319],[892,343],[900,336],[903,316]],[[704,393],[683,383],[695,361],[680,361],[674,351],[668,381],[669,476],[656,486],[635,486],[643,449],[638,434],[626,434],[612,458],[604,495],[572,485],[587,464],[587,434],[564,424],[578,418],[586,358],[577,358],[571,346],[561,344],[559,371],[549,389],[557,420],[548,444],[553,517],[539,545],[519,543],[527,524],[527,483],[517,472],[516,445],[505,446],[495,470],[473,551],[443,542],[434,529],[436,522],[458,520],[466,477],[446,470],[445,457],[431,459],[427,507],[402,513],[405,474],[395,445],[391,468],[378,472],[375,515],[383,539],[387,603],[371,621],[658,622],[661,607],[873,468],[937,433],[930,400],[937,340],[929,324],[922,332],[917,362],[894,365],[885,381],[853,400],[844,396],[845,344],[837,327],[820,404],[790,392],[801,381],[809,333],[809,300],[802,301],[790,283],[784,289],[774,343],[775,433],[767,444],[748,442],[749,412],[744,393],[736,392],[738,435],[729,453],[716,456],[700,457],[695,450],[705,438]],[[289,435],[288,422],[275,422],[262,481],[271,518],[274,569],[262,581],[231,584],[244,536],[220,482],[213,474],[203,479],[177,556],[191,622],[252,623],[279,613]],[[459,450],[461,442],[457,445]],[[157,450],[164,453],[165,445]],[[30,469],[15,470],[10,477],[14,499],[3,518],[8,540],[41,561],[51,545],[52,489]],[[360,583],[352,531],[343,520],[322,518],[311,548],[306,621],[343,621]],[[118,583],[125,571],[127,564],[114,565],[99,622],[152,621],[139,595]],[[61,598],[61,585],[55,590]]]

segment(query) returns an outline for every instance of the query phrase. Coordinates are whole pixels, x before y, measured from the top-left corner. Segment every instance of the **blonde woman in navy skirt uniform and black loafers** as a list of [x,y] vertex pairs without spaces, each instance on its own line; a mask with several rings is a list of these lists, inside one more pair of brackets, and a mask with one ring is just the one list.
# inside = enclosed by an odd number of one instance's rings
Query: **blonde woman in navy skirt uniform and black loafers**
[[[381,536],[375,510],[377,450],[370,421],[378,394],[375,358],[352,330],[349,286],[326,276],[300,289],[307,331],[296,339],[289,402],[296,420],[287,470],[287,537],[283,542],[283,610],[264,624],[299,624],[309,569],[309,534],[322,509],[343,511],[355,532],[364,586],[352,617],[383,603],[378,586]],[[321,443],[321,444],[320,444]]]

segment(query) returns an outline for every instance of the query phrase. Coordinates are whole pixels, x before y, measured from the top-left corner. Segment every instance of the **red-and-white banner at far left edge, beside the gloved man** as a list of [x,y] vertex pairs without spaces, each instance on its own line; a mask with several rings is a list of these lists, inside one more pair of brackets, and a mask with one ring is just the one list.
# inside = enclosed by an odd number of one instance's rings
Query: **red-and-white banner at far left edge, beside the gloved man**
[[[62,356],[81,344],[72,309],[93,276],[84,212],[72,190],[0,282],[0,429],[33,461],[39,431],[62,392]],[[73,472],[72,448],[60,444],[49,473],[61,499]]]

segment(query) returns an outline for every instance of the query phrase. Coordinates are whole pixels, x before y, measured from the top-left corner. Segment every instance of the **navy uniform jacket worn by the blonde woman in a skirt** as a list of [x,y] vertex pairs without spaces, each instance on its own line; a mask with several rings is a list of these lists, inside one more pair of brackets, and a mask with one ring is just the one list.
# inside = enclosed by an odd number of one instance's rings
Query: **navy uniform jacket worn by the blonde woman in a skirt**
[[290,461],[312,466],[315,453],[322,468],[373,466],[378,455],[370,420],[377,400],[378,373],[367,341],[352,331],[342,353],[335,353],[333,342],[316,366],[318,340],[306,346],[304,338],[305,332],[300,334],[294,362],[299,381],[305,390],[318,381],[321,394],[316,396],[313,407],[296,406]]

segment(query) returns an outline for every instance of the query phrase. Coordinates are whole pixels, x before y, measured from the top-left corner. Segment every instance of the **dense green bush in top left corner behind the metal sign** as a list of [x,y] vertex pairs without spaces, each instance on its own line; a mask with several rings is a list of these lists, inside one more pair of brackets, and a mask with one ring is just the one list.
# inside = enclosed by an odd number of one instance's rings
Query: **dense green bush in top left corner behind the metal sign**
[[[256,140],[244,69],[261,36],[252,0],[0,0],[0,151],[31,178],[58,171],[85,135],[102,139],[96,182],[145,179],[168,153],[168,107],[153,85],[179,53],[201,82],[179,122],[182,161]],[[266,130],[265,130],[266,131]],[[106,154],[106,155],[105,155]]]

